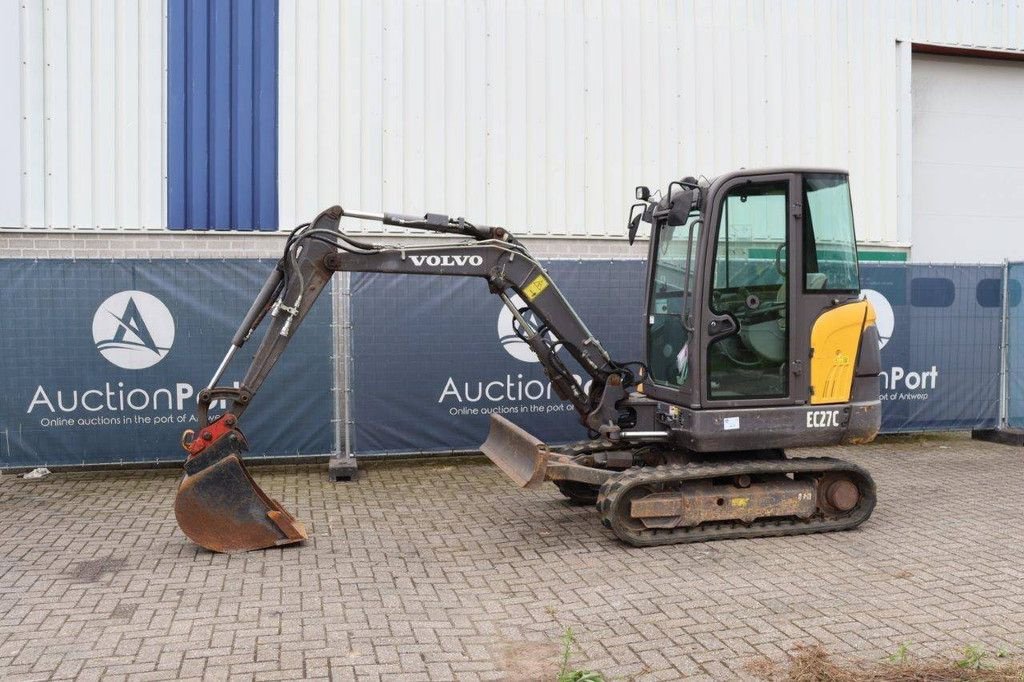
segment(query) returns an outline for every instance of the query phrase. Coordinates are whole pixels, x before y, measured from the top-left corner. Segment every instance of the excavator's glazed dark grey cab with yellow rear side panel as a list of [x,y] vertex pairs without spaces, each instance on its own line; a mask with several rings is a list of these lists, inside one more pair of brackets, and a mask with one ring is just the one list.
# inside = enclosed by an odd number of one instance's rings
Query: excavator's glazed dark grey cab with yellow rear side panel
[[[864,339],[873,311],[860,296],[847,174],[740,171],[687,182],[647,213],[644,393],[694,411],[792,413],[805,424],[792,408],[877,401],[878,344]],[[850,416],[846,433],[829,435],[873,436],[877,411]],[[792,446],[797,426],[780,423],[769,446]]]

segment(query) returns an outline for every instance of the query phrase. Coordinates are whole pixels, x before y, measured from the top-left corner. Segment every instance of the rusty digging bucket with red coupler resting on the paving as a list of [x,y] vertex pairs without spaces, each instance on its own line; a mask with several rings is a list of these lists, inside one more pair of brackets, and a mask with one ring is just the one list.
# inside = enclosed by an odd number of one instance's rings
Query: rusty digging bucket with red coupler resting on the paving
[[302,542],[305,526],[256,484],[242,463],[244,450],[245,438],[232,429],[188,458],[174,499],[181,531],[214,552]]

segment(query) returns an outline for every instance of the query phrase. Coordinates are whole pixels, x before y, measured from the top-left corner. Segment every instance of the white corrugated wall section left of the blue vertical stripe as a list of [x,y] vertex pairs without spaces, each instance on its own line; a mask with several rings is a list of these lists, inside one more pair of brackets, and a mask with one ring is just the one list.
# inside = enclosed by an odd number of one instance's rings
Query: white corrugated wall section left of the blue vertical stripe
[[163,3],[2,0],[0,24],[0,226],[162,229]]

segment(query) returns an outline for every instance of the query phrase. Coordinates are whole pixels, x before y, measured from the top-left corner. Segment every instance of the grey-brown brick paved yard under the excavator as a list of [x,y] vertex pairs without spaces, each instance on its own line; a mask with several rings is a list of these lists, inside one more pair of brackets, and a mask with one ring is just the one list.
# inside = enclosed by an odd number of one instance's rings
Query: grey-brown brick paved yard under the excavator
[[727,679],[798,642],[878,658],[1024,645],[1022,453],[964,437],[837,452],[861,529],[640,550],[485,461],[257,468],[302,547],[197,549],[176,474],[0,478],[0,678],[529,679],[571,626],[608,676]]

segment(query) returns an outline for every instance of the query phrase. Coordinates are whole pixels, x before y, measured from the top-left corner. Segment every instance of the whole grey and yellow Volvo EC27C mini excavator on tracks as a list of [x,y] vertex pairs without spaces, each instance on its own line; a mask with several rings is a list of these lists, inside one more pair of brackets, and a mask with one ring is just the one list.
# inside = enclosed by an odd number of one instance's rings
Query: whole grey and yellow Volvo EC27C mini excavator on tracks
[[[184,534],[238,552],[300,542],[306,530],[253,480],[239,419],[317,295],[338,271],[477,276],[590,438],[548,446],[493,415],[480,450],[517,484],[552,481],[596,504],[636,546],[852,528],[874,483],[842,460],[784,449],[860,443],[878,433],[879,337],[860,295],[844,171],[742,170],[637,187],[632,244],[649,223],[645,358],[611,358],[541,263],[508,230],[464,218],[330,208],[291,233],[186,431],[175,500]],[[342,217],[457,235],[440,245],[378,245]],[[514,302],[513,295],[521,301]],[[614,309],[615,301],[608,301]],[[263,319],[269,328],[238,387],[218,386]],[[588,375],[566,365],[571,357]],[[211,419],[210,408],[226,411]]]

